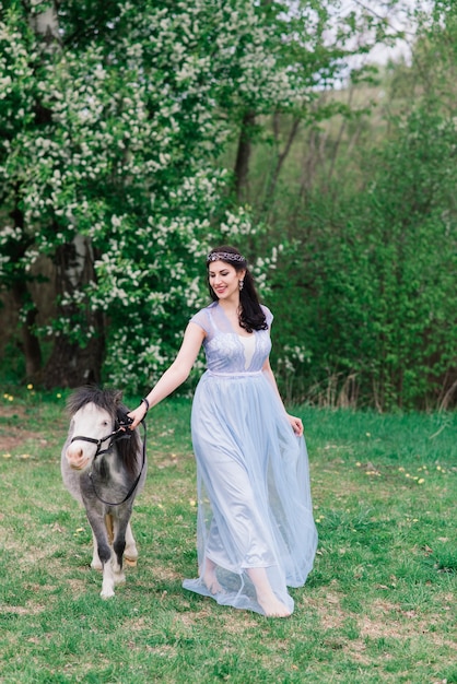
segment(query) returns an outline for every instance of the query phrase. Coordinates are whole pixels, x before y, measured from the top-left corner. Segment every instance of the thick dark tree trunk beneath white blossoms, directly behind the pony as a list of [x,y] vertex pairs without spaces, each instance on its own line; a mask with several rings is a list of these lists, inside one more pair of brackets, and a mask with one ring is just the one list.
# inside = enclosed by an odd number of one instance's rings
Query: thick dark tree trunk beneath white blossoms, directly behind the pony
[[[56,255],[56,291],[66,297],[81,292],[90,281],[95,280],[92,245],[87,238],[77,236],[73,243],[62,245]],[[73,342],[66,334],[58,334],[54,340],[54,349],[46,364],[44,385],[47,389],[55,387],[74,388],[81,385],[99,384],[102,364],[105,352],[103,314],[86,308],[82,311],[74,304],[60,305],[57,319],[82,320],[84,330],[94,333],[87,337],[84,346]],[[85,320],[84,320],[85,319]]]

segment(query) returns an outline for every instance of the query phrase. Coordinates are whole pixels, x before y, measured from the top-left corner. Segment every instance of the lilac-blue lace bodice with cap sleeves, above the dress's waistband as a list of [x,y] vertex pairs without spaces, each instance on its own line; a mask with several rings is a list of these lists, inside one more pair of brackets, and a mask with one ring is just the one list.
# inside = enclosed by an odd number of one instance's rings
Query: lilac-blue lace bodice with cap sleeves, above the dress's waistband
[[[271,311],[261,307],[268,327],[273,320]],[[238,333],[236,333],[225,316],[223,308],[218,302],[213,302],[204,309],[192,316],[191,323],[196,323],[207,333],[203,341],[203,349],[207,356],[208,369],[212,373],[239,374],[261,370],[265,361],[271,350],[269,330],[255,330],[255,350],[246,367],[246,351],[249,350]]]

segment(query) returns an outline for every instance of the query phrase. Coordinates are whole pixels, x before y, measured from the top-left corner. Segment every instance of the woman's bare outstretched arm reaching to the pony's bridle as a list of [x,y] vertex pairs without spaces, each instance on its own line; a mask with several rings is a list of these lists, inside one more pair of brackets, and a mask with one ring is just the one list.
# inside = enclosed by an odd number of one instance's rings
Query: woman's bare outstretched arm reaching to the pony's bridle
[[[149,408],[155,406],[162,399],[168,397],[179,385],[188,378],[191,367],[200,351],[201,343],[203,342],[206,332],[202,328],[196,323],[189,323],[184,333],[183,344],[180,350],[173,362],[173,364],[165,370],[163,376],[157,380],[156,385],[147,394]],[[133,423],[130,425],[131,429],[134,429],[137,425],[143,420],[148,411],[147,403],[142,401],[140,405],[128,414],[133,418]]]

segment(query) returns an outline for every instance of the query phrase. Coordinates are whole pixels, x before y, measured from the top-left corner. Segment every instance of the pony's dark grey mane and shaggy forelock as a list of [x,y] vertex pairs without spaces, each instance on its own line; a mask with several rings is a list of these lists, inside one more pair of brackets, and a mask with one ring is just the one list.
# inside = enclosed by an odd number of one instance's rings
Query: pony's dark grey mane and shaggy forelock
[[[109,413],[117,429],[119,420],[129,412],[129,409],[121,403],[122,392],[115,389],[101,389],[99,387],[87,385],[80,387],[70,394],[67,400],[67,410],[72,417],[80,409],[87,403],[93,403],[99,409]],[[117,452],[127,468],[127,470],[136,474],[138,470],[139,455],[141,443],[138,431],[133,429],[128,439],[117,441]]]

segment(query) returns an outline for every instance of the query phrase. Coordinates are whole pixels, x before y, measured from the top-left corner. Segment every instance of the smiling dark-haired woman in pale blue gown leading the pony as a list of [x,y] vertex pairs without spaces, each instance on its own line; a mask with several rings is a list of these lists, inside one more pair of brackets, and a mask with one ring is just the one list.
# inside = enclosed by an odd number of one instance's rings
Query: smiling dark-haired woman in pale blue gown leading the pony
[[259,304],[246,259],[233,247],[207,258],[212,304],[187,326],[179,353],[129,415],[188,377],[203,344],[208,370],[191,416],[198,479],[199,577],[190,591],[267,616],[293,612],[317,545],[303,425],[282,404],[269,353],[273,319]]

